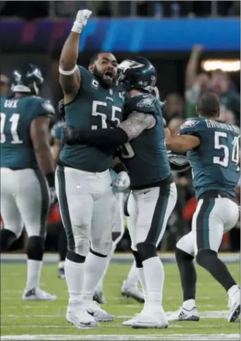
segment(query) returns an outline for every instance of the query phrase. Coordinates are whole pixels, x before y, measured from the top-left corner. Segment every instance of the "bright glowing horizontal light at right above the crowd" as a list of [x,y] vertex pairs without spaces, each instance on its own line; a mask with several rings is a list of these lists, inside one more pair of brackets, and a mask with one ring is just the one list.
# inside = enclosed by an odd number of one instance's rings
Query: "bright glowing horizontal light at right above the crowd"
[[207,59],[201,63],[202,69],[206,72],[222,70],[223,72],[240,71],[240,60],[238,59]]

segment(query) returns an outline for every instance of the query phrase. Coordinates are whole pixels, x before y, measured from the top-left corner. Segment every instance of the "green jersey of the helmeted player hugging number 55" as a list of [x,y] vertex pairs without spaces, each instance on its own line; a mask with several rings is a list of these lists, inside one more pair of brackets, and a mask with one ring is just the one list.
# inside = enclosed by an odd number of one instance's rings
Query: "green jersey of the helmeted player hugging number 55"
[[130,96],[126,110],[153,115],[156,125],[146,129],[129,143],[122,146],[122,160],[128,168],[132,187],[156,184],[171,176],[171,168],[165,144],[165,131],[161,103],[151,94]]

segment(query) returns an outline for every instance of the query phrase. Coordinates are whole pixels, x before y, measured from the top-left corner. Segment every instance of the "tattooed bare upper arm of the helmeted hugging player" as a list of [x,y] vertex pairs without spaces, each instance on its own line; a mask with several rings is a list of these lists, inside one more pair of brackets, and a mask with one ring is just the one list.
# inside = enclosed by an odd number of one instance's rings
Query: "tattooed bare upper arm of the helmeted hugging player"
[[128,119],[121,122],[118,128],[123,129],[128,134],[129,141],[139,136],[145,129],[150,129],[156,124],[153,115],[142,114],[142,112],[132,112]]

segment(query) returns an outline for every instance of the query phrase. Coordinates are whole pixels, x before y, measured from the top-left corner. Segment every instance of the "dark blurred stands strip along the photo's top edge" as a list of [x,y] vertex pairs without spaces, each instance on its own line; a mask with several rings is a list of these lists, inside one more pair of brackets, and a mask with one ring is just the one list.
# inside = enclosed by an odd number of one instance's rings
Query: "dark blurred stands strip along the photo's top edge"
[[25,20],[73,18],[78,9],[89,8],[102,17],[217,17],[240,16],[240,1],[1,1],[2,17]]

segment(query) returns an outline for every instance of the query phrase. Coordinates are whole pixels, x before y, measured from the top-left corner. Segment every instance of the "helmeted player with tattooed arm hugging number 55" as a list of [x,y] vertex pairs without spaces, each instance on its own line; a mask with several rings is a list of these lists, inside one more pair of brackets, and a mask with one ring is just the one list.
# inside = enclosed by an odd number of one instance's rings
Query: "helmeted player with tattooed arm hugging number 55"
[[144,292],[142,312],[124,326],[166,328],[168,321],[162,308],[164,270],[156,253],[175,207],[177,192],[165,146],[161,103],[152,95],[156,70],[149,60],[136,57],[119,65],[118,82],[130,92],[128,117],[116,129],[80,131],[65,127],[66,143],[90,143],[122,146],[121,158],[130,176],[134,221],[130,230],[132,250]]

